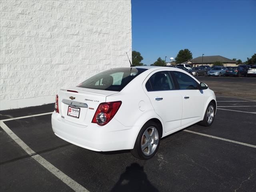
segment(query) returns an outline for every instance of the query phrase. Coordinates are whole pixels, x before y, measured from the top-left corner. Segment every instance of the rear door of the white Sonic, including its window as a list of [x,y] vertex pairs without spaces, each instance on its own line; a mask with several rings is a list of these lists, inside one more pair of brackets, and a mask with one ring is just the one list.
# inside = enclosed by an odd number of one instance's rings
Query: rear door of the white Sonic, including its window
[[180,128],[182,98],[168,71],[156,71],[146,79],[146,94],[164,122],[164,132]]

